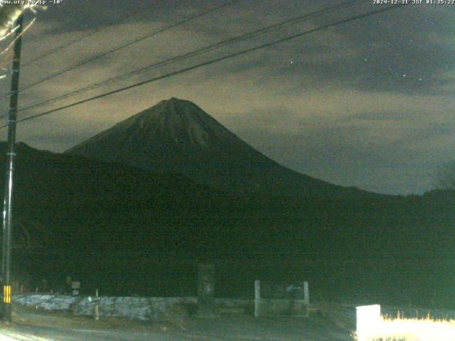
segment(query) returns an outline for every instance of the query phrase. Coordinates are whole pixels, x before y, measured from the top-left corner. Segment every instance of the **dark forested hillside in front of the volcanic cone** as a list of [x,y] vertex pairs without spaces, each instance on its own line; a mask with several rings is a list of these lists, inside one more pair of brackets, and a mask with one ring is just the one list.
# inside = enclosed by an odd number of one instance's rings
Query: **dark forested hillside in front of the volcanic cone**
[[[2,144],[0,172],[4,149]],[[236,288],[242,281],[249,288],[253,276],[262,276],[259,269],[272,278],[287,276],[277,269],[291,269],[306,278],[318,273],[314,281],[320,288],[344,281],[350,291],[355,278],[373,291],[378,283],[412,281],[419,296],[419,288],[428,285],[428,274],[422,280],[418,266],[422,261],[430,262],[425,271],[437,274],[432,281],[451,278],[442,270],[448,269],[455,247],[455,194],[450,191],[409,197],[241,195],[197,185],[183,175],[24,144],[18,145],[14,190],[14,269],[34,281],[48,276],[57,283],[77,274],[86,287],[105,293],[125,294],[134,286],[144,295],[175,295],[182,283],[191,286],[196,261],[220,260],[230,262],[220,271],[237,276],[234,269],[250,264]],[[301,263],[304,259],[315,263]],[[328,261],[321,265],[321,259]],[[343,259],[358,263],[346,265]],[[163,262],[173,265],[163,268]],[[313,270],[306,273],[309,266]],[[380,281],[365,284],[375,271]],[[390,271],[395,275],[384,281]],[[173,279],[157,286],[166,276]],[[232,272],[219,276],[232,279]],[[223,283],[225,292],[233,290],[229,281]]]

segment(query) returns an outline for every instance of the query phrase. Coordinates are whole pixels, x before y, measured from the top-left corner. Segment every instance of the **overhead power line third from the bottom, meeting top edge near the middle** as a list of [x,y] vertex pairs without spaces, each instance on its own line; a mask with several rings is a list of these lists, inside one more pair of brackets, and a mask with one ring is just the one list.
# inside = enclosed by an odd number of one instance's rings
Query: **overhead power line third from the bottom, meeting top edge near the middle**
[[[205,10],[205,11],[198,12],[198,13],[196,13],[193,16],[189,16],[188,18],[183,19],[182,21],[178,21],[177,23],[173,23],[171,25],[165,26],[164,28],[160,28],[159,30],[152,31],[150,33],[145,34],[144,36],[138,36],[137,38],[134,38],[133,40],[127,41],[127,43],[123,43],[122,45],[117,45],[116,47],[111,48],[110,50],[107,50],[107,51],[105,51],[103,53],[99,53],[99,54],[97,54],[97,55],[95,55],[95,56],[93,56],[91,58],[86,59],[86,60],[82,60],[82,62],[77,63],[75,65],[72,65],[70,67],[65,67],[65,69],[63,69],[63,70],[60,70],[58,72],[52,73],[52,74],[50,74],[50,75],[48,75],[46,77],[41,78],[41,80],[37,80],[36,82],[32,82],[32,83],[26,85],[25,87],[22,87],[21,90],[19,90],[19,92],[23,92],[25,90],[28,90],[31,87],[34,87],[36,85],[39,85],[39,84],[45,82],[46,80],[51,80],[52,78],[55,78],[55,77],[60,76],[60,75],[63,75],[66,72],[69,72],[71,70],[75,70],[77,67],[81,67],[83,65],[87,65],[88,63],[92,63],[93,61],[95,61],[97,59],[100,59],[102,57],[105,57],[106,55],[109,55],[111,53],[117,52],[118,50],[122,50],[123,48],[127,48],[130,45],[139,43],[142,40],[145,40],[147,38],[151,38],[152,36],[156,36],[159,33],[163,33],[165,31],[168,31],[171,28],[175,28],[177,26],[182,25],[183,23],[187,23],[188,21],[191,21],[193,19],[200,18],[201,16],[205,16],[208,13],[211,13],[213,11],[221,9],[221,8],[223,8],[225,6],[229,6],[229,5],[234,4],[235,2],[238,2],[238,1],[240,1],[240,0],[227,1],[224,4],[221,4],[219,6],[215,6],[215,7],[211,8],[211,9],[208,9],[208,10]],[[5,97],[9,97],[9,93],[1,95],[0,99],[4,99]]]

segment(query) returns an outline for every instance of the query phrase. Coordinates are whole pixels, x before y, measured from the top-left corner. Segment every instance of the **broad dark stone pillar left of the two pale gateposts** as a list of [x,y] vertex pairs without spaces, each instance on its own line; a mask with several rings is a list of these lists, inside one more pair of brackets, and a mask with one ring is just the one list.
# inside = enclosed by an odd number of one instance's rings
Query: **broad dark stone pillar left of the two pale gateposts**
[[198,316],[213,318],[215,314],[215,265],[198,265]]

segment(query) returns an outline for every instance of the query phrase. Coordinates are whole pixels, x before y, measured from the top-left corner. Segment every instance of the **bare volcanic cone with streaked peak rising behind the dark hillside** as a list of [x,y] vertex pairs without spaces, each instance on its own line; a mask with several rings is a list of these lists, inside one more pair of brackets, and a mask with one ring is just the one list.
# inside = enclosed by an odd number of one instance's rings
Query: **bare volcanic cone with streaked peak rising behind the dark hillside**
[[70,148],[89,158],[149,171],[183,173],[198,183],[240,193],[364,193],[279,165],[232,134],[193,102],[171,98]]

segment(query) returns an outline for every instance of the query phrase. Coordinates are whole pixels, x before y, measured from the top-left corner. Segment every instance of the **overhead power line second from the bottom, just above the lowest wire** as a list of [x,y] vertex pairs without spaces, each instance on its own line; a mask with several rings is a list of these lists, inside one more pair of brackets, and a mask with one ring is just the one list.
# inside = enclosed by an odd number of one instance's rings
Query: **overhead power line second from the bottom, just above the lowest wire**
[[237,43],[237,42],[239,42],[241,40],[245,40],[245,39],[249,39],[249,38],[258,36],[259,34],[268,33],[270,31],[274,31],[274,30],[277,30],[279,28],[283,28],[285,26],[289,26],[291,24],[297,23],[297,22],[302,21],[302,20],[304,20],[306,18],[310,18],[310,17],[313,17],[313,16],[318,16],[318,15],[325,14],[325,13],[328,13],[328,12],[331,12],[331,11],[336,11],[336,10],[339,10],[339,9],[343,9],[343,8],[345,8],[347,6],[352,6],[356,2],[361,2],[361,1],[365,1],[365,0],[346,1],[343,4],[338,4],[336,6],[328,6],[328,7],[324,8],[324,9],[321,9],[321,10],[318,10],[318,11],[314,11],[314,12],[305,14],[303,16],[297,16],[295,18],[291,18],[291,19],[289,19],[287,21],[283,21],[281,23],[277,23],[277,24],[274,24],[272,26],[267,26],[267,27],[264,27],[264,28],[260,28],[260,29],[258,29],[256,31],[252,31],[250,33],[245,33],[245,34],[242,34],[240,36],[235,36],[235,37],[229,38],[227,40],[223,40],[223,41],[220,41],[218,43],[215,43],[213,45],[208,45],[208,46],[205,46],[204,48],[200,48],[198,50],[194,50],[194,51],[191,51],[191,52],[188,52],[188,53],[183,53],[182,55],[178,55],[176,57],[169,58],[167,60],[163,60],[163,61],[161,61],[159,63],[153,63],[151,65],[147,65],[146,67],[141,67],[141,68],[139,68],[137,70],[134,70],[132,72],[127,72],[124,75],[119,75],[119,76],[116,76],[116,77],[108,78],[107,80],[104,80],[102,82],[97,82],[95,84],[88,85],[87,87],[82,87],[79,90],[74,90],[74,91],[71,91],[71,92],[67,92],[67,93],[61,94],[61,95],[59,95],[57,97],[53,97],[51,99],[46,99],[43,102],[38,102],[36,104],[28,105],[28,107],[25,107],[25,108],[19,110],[19,112],[23,112],[25,110],[32,109],[32,108],[35,108],[35,107],[41,107],[44,104],[57,102],[60,99],[73,97],[76,94],[81,94],[83,92],[87,92],[89,90],[94,90],[94,89],[96,89],[98,87],[102,87],[104,85],[112,84],[113,82],[117,82],[119,80],[125,80],[125,79],[127,79],[129,77],[132,77],[134,75],[139,75],[140,73],[142,73],[142,72],[144,72],[146,70],[156,69],[156,68],[159,68],[159,67],[171,64],[171,63],[175,63],[177,61],[186,60],[188,58],[193,58],[196,55],[201,55],[203,53],[208,53],[209,51],[215,50],[215,49],[220,48],[220,47],[223,47],[224,45],[228,45],[228,44],[231,44],[231,43]]

